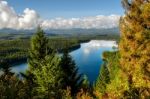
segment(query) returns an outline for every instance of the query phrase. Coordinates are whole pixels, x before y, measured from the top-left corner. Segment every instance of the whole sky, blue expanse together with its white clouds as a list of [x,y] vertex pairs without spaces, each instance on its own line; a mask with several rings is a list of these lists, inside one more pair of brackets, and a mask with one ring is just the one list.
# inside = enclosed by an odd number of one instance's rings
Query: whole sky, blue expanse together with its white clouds
[[0,29],[113,28],[120,0],[0,0]]

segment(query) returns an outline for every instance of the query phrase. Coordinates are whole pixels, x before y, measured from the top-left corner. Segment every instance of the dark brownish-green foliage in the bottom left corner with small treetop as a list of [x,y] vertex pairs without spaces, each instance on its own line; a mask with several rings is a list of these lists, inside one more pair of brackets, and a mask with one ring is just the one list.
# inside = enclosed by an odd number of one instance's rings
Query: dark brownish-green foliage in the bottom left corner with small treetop
[[0,76],[0,99],[25,99],[25,84],[10,72],[7,63],[3,67]]

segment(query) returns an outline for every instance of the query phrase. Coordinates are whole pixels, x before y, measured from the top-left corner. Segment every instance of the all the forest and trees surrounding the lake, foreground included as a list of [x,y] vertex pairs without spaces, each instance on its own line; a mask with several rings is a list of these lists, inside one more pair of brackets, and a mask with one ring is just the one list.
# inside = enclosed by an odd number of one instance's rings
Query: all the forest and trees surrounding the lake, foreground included
[[[70,48],[89,39],[62,39],[60,44],[60,38],[51,39],[38,27],[30,40],[0,42],[0,99],[150,99],[150,1],[122,0],[122,5],[119,48],[103,53],[94,84],[79,74],[69,55]],[[17,58],[27,58],[29,65],[22,79],[10,71],[8,60]]]

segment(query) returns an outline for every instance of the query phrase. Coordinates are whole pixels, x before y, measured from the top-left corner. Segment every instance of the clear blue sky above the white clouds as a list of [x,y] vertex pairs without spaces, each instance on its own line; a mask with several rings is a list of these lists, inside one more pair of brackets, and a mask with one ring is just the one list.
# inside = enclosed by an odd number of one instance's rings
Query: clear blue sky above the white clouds
[[7,0],[17,13],[34,9],[42,18],[123,14],[121,0]]

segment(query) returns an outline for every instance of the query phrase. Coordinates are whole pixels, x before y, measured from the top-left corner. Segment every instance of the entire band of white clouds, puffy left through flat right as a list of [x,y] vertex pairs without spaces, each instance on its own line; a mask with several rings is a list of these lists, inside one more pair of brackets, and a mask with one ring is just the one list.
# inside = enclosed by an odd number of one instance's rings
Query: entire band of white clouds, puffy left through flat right
[[34,29],[41,25],[44,29],[69,29],[69,28],[113,28],[119,23],[119,15],[98,15],[85,18],[55,18],[41,20],[38,13],[26,8],[22,15],[17,14],[6,1],[0,1],[0,29]]

